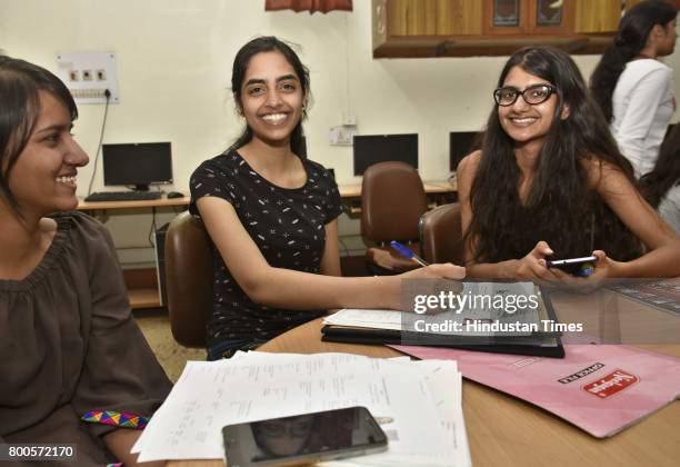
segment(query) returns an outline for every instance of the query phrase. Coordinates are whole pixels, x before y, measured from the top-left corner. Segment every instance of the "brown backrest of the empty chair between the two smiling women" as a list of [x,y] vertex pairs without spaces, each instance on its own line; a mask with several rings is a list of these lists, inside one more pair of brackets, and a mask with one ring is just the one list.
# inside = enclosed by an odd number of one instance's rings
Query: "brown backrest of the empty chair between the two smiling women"
[[428,209],[418,171],[404,162],[379,162],[363,172],[361,235],[383,242],[418,240],[418,220]]

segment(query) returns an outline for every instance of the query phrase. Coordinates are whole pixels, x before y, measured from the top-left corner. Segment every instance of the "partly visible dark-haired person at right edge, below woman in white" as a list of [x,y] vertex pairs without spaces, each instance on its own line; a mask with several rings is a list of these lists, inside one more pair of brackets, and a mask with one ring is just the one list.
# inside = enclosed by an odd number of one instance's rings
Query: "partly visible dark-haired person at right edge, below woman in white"
[[647,201],[680,235],[680,125],[670,130],[654,169],[640,179]]

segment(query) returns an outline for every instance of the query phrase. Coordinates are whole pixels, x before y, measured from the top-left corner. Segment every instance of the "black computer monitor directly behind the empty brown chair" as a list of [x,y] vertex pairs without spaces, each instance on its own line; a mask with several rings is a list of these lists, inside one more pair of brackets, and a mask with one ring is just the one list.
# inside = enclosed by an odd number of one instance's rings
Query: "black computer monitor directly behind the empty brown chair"
[[397,160],[418,168],[418,135],[354,136],[354,175],[373,163]]

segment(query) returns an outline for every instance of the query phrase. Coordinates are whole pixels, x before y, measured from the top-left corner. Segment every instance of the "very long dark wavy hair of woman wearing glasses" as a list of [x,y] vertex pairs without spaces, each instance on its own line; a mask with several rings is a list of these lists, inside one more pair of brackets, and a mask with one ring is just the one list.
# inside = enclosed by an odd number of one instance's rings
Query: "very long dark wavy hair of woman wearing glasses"
[[[540,149],[526,201],[520,200],[520,169],[513,140],[493,107],[482,156],[470,192],[472,221],[463,238],[476,262],[524,257],[546,240],[556,258],[606,249],[616,259],[640,254],[640,244],[589,183],[586,166],[607,162],[634,183],[632,166],[621,156],[573,60],[550,47],[527,47],[506,63],[498,87],[520,67],[557,88],[552,125]],[[562,119],[564,106],[569,116]]]

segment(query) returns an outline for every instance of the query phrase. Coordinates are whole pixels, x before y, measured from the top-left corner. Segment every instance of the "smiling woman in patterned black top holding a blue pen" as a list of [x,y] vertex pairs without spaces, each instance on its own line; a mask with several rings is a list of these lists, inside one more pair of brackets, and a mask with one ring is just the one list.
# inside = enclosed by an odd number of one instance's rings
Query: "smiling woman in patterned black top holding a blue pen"
[[219,251],[209,359],[257,347],[328,308],[399,308],[402,278],[464,276],[433,265],[403,276],[334,277],[338,186],[300,152],[307,68],[287,43],[260,37],[237,53],[231,85],[246,129],[190,180],[190,210]]

